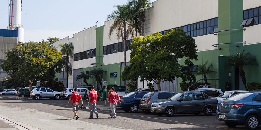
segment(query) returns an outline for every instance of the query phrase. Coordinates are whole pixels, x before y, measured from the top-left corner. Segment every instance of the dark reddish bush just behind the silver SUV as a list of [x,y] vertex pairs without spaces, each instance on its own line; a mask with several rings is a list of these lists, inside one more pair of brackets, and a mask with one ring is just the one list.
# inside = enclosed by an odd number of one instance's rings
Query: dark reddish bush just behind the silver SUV
[[56,82],[56,81],[48,81],[46,84],[45,83],[41,83],[40,87],[48,87],[51,90],[54,91],[58,91],[61,92],[65,89],[63,83],[61,81]]

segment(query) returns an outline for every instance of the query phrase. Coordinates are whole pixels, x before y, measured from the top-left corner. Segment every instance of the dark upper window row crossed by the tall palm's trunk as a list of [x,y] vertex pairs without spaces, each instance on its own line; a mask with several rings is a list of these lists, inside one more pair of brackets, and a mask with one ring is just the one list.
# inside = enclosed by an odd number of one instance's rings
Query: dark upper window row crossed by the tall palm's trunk
[[[128,43],[126,44],[126,51],[131,50],[131,46],[130,46],[131,43],[132,40],[128,40]],[[103,55],[108,55],[108,54],[123,52],[123,51],[124,51],[123,42],[103,46]]]

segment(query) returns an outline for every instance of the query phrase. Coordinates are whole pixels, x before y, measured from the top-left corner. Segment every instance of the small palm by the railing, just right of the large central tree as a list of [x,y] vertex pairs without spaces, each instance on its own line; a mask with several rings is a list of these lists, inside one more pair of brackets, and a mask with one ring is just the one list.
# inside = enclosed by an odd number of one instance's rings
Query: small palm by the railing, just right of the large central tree
[[[210,68],[213,67],[212,63],[208,65],[208,60],[204,63],[204,64],[201,64],[201,65],[198,65],[198,68],[195,72],[195,75],[203,75],[203,78],[207,78],[207,75],[210,74],[210,73],[217,73],[215,71],[211,71]],[[208,81],[206,79],[204,79],[205,83],[207,84]]]

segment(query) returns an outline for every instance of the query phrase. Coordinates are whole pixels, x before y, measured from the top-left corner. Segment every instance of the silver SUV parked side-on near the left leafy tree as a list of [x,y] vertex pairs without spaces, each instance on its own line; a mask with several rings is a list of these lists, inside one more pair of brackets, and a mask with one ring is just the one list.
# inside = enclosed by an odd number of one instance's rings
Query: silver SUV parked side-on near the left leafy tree
[[62,93],[53,91],[46,87],[40,87],[34,88],[30,96],[35,100],[39,100],[40,98],[60,99],[62,97]]

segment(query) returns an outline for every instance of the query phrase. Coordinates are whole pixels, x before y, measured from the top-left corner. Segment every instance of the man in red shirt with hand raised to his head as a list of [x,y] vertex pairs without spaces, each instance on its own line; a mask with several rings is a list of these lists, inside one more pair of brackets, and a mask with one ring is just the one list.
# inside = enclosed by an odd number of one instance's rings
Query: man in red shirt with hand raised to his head
[[[109,99],[110,99],[110,109],[111,109],[111,114],[110,114],[110,117],[112,118],[116,118],[116,104],[117,104],[117,99],[119,100],[120,102],[120,97],[119,97],[119,94],[117,94],[113,88],[111,88],[111,93],[109,94],[108,96],[108,99],[107,99],[107,103],[109,102]],[[121,102],[120,102],[120,105],[121,105]]]

